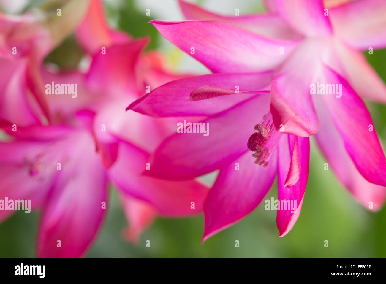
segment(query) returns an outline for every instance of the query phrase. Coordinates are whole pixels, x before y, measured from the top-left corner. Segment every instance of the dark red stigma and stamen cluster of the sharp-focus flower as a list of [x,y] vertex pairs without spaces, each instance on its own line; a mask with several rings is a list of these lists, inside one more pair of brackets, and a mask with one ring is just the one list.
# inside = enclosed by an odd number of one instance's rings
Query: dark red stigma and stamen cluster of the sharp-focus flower
[[279,135],[277,135],[278,132],[273,124],[271,112],[264,115],[261,122],[253,128],[258,132],[255,132],[249,137],[247,147],[254,152],[254,154],[252,154],[252,157],[256,158],[254,163],[267,167],[276,149],[279,138]]

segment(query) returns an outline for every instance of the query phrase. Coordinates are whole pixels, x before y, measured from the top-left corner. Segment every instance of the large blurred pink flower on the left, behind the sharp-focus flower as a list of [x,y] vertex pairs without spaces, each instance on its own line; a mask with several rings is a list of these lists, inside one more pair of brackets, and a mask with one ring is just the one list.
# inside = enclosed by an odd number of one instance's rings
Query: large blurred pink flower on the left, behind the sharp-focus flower
[[[95,11],[102,14],[92,17]],[[207,186],[194,180],[173,182],[141,175],[149,153],[171,134],[170,121],[175,118],[155,120],[125,113],[124,106],[144,92],[145,83],[153,87],[180,76],[168,73],[158,54],[142,55],[146,39],[131,40],[111,31],[103,19],[100,1],[91,1],[77,30],[92,57],[87,73],[58,73],[45,66],[41,70],[44,83],[78,84],[76,97],[46,95],[51,124],[17,125],[14,131],[12,121],[1,121],[10,137],[0,143],[0,199],[30,199],[32,209],[42,210],[39,257],[85,254],[108,210],[109,184],[119,190],[130,225],[125,238],[132,242],[156,215],[199,213],[207,195]],[[85,34],[95,35],[95,41],[83,39]],[[103,34],[105,39],[98,38]],[[106,54],[100,52],[102,46]],[[0,220],[10,213],[0,211]]]

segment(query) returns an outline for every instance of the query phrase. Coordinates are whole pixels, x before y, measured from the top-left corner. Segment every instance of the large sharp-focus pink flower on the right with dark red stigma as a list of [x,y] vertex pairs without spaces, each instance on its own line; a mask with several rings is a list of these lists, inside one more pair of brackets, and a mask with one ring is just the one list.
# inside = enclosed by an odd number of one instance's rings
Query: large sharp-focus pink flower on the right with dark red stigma
[[[384,102],[386,88],[356,50],[386,46],[386,2],[344,3],[329,7],[327,16],[321,0],[275,0],[266,1],[273,12],[238,17],[179,2],[188,19],[199,20],[151,22],[215,74],[167,83],[128,109],[153,117],[208,116],[208,137],[171,135],[145,172],[183,180],[220,169],[204,204],[203,240],[251,212],[276,172],[278,199],[297,204],[294,214],[278,211],[279,236],[288,233],[303,202],[310,135],[357,201],[381,208],[386,161],[360,96]],[[316,95],[332,84],[336,93]],[[256,150],[254,158],[249,150]]]

